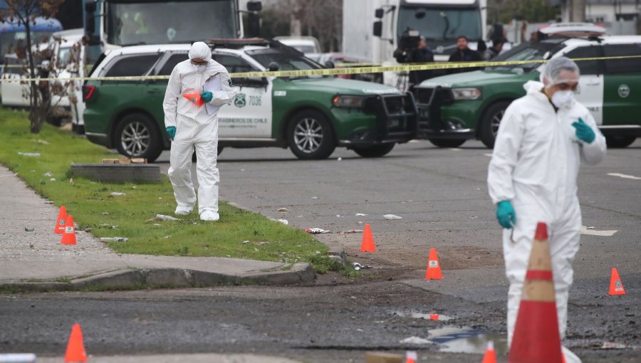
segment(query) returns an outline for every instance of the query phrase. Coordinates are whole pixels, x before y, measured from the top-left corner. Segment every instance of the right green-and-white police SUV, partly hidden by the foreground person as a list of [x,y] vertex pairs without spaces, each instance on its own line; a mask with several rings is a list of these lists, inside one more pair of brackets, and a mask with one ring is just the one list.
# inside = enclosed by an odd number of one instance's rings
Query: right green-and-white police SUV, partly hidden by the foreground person
[[[528,42],[492,61],[533,61],[558,56],[641,56],[641,36],[552,36]],[[578,61],[576,99],[588,107],[608,147],[627,147],[641,136],[641,58]],[[503,114],[538,80],[542,63],[526,63],[432,78],[417,87],[419,136],[439,147],[480,139],[494,147]]]

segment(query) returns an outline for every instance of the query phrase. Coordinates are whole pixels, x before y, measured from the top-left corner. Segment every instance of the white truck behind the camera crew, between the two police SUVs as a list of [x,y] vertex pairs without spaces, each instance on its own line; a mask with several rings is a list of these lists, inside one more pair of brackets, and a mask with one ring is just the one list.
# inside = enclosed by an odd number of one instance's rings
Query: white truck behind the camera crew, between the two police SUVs
[[[458,36],[469,48],[486,32],[487,0],[349,0],[343,1],[345,62],[395,63],[392,56],[405,31],[427,38],[435,61],[447,61]],[[370,80],[398,86],[398,75],[370,75]]]

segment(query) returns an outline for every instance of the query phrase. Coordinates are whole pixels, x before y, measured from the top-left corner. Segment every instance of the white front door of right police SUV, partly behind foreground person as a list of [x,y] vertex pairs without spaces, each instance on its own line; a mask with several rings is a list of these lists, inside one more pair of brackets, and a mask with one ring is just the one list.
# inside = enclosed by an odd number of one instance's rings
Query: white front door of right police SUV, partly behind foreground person
[[[569,51],[568,58],[597,58],[603,56],[599,45],[582,46]],[[580,69],[576,100],[588,107],[597,125],[603,124],[603,61],[577,61]]]

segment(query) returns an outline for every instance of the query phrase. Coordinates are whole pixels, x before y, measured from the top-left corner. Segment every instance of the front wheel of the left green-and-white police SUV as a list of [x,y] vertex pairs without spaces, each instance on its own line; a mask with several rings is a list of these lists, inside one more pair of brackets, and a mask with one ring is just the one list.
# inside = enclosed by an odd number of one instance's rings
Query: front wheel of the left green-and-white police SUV
[[291,118],[287,130],[287,144],[298,159],[327,159],[336,140],[328,118],[323,112],[303,110]]

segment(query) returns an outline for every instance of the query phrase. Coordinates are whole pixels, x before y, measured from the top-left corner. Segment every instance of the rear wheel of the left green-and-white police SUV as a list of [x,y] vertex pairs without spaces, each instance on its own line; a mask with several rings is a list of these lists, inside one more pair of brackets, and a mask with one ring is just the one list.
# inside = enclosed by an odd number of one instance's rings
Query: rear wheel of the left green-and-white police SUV
[[130,113],[118,123],[115,145],[125,157],[144,157],[153,162],[162,152],[160,130],[151,117],[143,113]]

